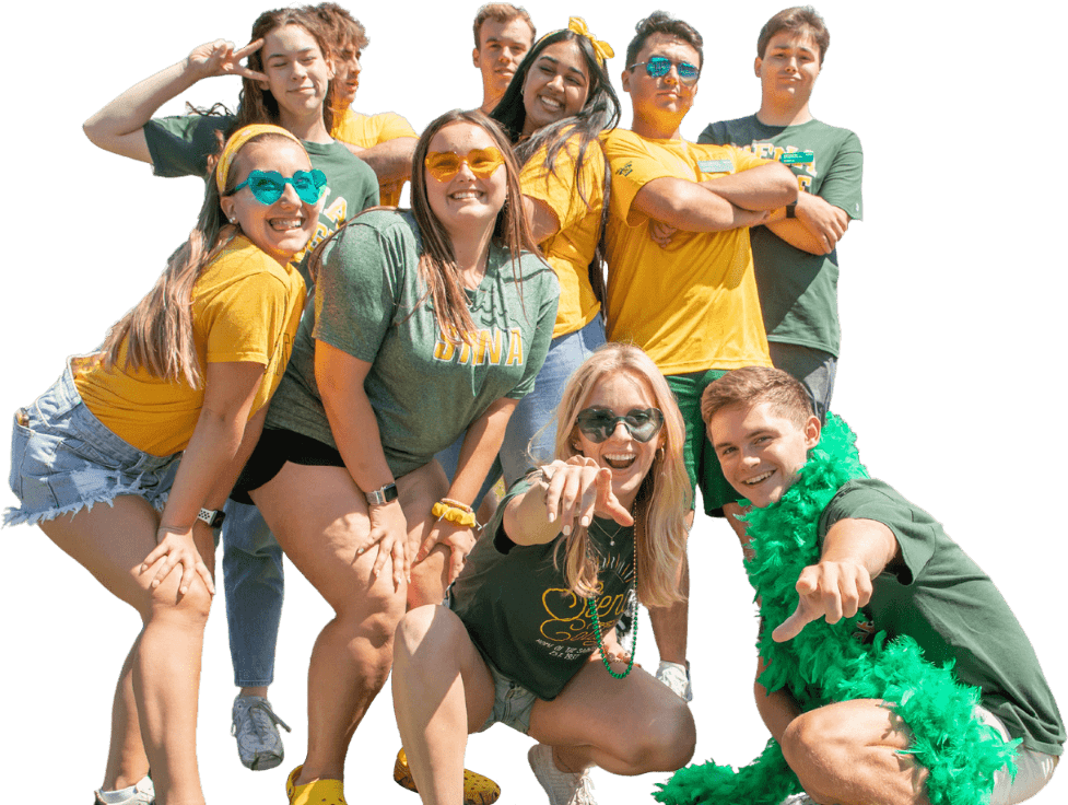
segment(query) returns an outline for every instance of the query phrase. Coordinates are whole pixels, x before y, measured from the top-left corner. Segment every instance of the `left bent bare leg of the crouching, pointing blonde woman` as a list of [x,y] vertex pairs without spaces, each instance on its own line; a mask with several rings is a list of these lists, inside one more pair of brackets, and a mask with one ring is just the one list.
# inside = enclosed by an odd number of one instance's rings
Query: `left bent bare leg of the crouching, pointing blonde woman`
[[456,615],[423,606],[404,616],[397,628],[392,692],[422,802],[460,805],[467,734],[493,710],[493,678]]

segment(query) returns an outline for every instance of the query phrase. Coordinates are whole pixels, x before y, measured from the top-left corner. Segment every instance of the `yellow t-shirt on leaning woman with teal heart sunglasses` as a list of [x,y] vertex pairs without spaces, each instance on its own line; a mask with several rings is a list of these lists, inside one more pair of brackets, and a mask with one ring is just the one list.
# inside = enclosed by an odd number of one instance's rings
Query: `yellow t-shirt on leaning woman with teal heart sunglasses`
[[[304,307],[304,280],[244,236],[235,237],[203,270],[192,289],[192,325],[201,376],[209,363],[266,366],[251,417],[274,394]],[[164,381],[145,370],[124,371],[126,345],[110,372],[101,353],[72,361],[82,400],[108,430],[138,450],[166,456],[186,448],[204,389]]]

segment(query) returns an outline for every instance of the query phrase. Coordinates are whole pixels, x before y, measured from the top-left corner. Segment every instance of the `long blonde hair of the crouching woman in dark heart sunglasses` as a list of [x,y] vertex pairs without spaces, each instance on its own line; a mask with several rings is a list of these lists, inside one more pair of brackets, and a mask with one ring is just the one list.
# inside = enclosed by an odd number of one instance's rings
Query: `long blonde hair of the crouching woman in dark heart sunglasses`
[[[685,424],[674,395],[653,360],[631,343],[609,342],[599,348],[567,382],[556,412],[555,456],[566,460],[582,455],[575,420],[601,378],[625,373],[645,383],[656,407],[664,413],[664,442],[638,489],[634,504],[634,540],[637,557],[637,595],[646,606],[669,606],[685,600],[679,590],[679,564],[685,557],[685,514],[690,506],[690,476],[682,458]],[[554,561],[563,555],[564,578],[577,596],[597,593],[595,555],[586,528],[574,528],[556,542]]]

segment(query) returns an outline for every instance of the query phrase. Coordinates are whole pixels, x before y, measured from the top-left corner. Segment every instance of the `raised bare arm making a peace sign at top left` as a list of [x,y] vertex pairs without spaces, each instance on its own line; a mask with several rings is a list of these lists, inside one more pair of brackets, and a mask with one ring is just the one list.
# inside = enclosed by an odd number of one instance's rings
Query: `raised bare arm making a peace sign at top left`
[[82,124],[82,131],[98,149],[138,162],[152,164],[142,130],[167,101],[186,92],[201,79],[213,75],[244,75],[259,81],[267,77],[244,67],[240,60],[262,47],[263,40],[235,50],[234,43],[215,39],[195,47],[181,61],[139,81]]

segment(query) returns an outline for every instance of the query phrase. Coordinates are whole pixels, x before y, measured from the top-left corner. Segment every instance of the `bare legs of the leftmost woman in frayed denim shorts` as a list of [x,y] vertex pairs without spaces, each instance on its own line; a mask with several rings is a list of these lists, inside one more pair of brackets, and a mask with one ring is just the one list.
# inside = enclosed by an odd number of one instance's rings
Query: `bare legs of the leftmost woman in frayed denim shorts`
[[[124,495],[113,502],[114,506],[97,504],[40,524],[49,539],[108,592],[137,609],[144,623],[119,675],[105,774],[118,780],[122,772],[137,773],[146,761],[161,805],[203,805],[197,713],[212,596],[198,581],[179,597],[178,572],[150,590],[154,574],[141,575],[138,570],[156,545],[159,516],[141,498]],[[198,548],[213,571],[213,546]],[[143,744],[140,751],[129,718],[131,693]]]

